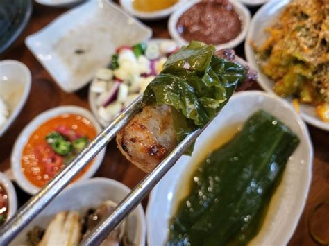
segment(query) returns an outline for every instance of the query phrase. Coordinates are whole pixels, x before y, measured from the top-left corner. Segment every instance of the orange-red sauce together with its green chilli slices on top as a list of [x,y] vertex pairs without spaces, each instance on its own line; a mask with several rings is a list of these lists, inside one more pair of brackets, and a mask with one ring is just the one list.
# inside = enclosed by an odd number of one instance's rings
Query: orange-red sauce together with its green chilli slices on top
[[31,134],[22,150],[24,175],[35,186],[44,186],[94,137],[94,125],[83,116],[62,114],[49,119]]

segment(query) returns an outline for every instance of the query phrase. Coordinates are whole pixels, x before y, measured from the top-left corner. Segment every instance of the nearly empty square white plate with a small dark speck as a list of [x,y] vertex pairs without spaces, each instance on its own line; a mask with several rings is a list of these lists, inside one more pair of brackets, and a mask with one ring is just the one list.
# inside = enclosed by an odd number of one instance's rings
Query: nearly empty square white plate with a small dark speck
[[117,46],[142,42],[151,35],[150,28],[115,3],[93,0],[65,12],[25,43],[58,85],[72,92],[110,62]]

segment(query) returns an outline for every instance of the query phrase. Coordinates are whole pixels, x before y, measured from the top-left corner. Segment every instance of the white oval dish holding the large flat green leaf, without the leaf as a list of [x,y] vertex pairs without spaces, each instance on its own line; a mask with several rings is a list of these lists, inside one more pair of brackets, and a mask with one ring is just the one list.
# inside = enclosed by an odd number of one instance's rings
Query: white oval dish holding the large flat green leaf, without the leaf
[[165,244],[169,220],[173,216],[177,202],[175,197],[180,192],[180,185],[186,183],[193,172],[193,168],[189,166],[193,159],[207,155],[206,143],[217,141],[221,130],[228,125],[244,123],[259,109],[264,109],[279,118],[298,135],[301,143],[289,158],[282,181],[269,204],[262,229],[250,244],[286,245],[288,243],[303,211],[310,187],[313,160],[310,135],[305,123],[285,100],[262,91],[245,91],[235,94],[208,128],[201,133],[196,140],[192,157],[180,157],[174,167],[153,188],[146,211],[149,245]]

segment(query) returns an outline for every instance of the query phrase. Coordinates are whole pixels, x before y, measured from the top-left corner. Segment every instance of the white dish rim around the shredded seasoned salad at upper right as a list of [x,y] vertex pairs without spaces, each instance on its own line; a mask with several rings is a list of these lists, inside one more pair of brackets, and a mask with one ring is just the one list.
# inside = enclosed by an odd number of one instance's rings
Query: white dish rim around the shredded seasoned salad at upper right
[[[258,66],[255,52],[253,51],[253,47],[251,46],[250,42],[253,41],[256,45],[261,45],[266,41],[268,35],[264,32],[264,28],[271,26],[271,24],[276,21],[278,15],[280,15],[280,12],[284,10],[287,3],[289,3],[289,0],[273,0],[262,6],[262,8],[256,12],[253,19],[251,20],[250,28],[248,30],[246,42],[244,45],[246,60],[251,65],[251,67],[258,71],[258,83],[262,89],[273,95],[276,95],[276,93],[273,91],[274,82],[271,80],[271,78],[262,73],[262,69]],[[289,103],[292,103],[292,98],[287,98],[287,100]],[[301,104],[300,109],[300,114],[303,120],[317,128],[329,131],[329,123],[321,121],[321,119],[317,116],[314,107],[311,105]]]

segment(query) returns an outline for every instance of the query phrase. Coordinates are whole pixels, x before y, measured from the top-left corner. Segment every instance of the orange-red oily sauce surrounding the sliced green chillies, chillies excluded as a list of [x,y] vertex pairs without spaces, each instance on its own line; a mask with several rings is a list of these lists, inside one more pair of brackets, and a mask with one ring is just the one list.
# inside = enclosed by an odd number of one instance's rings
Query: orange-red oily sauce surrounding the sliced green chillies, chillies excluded
[[[96,137],[94,125],[87,118],[76,114],[62,114],[42,123],[28,139],[26,146],[24,146],[21,159],[24,175],[35,186],[44,186],[44,184],[47,184],[65,166],[64,159],[53,155],[53,150],[48,146],[45,139],[47,134],[53,132],[59,126],[65,126],[74,130],[76,133],[87,137],[87,139]],[[55,165],[52,166],[53,172],[51,172],[51,175],[49,175],[49,170],[47,170],[49,167],[45,163],[45,158],[51,158]],[[76,179],[85,173],[90,164],[77,175]]]

